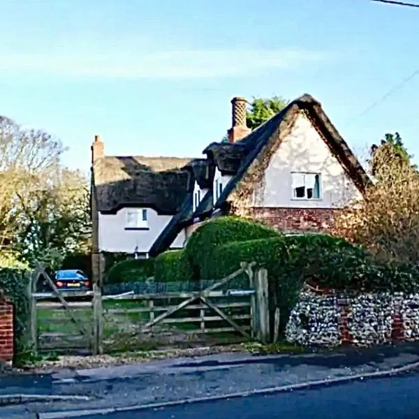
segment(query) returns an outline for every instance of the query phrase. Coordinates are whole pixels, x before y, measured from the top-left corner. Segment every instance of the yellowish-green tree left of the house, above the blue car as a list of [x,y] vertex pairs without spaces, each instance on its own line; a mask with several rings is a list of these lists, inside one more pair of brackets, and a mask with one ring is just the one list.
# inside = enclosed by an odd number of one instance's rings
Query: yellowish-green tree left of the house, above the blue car
[[57,267],[69,254],[89,251],[87,186],[81,172],[60,168],[54,182],[45,182],[20,196],[18,244],[30,264],[41,260]]

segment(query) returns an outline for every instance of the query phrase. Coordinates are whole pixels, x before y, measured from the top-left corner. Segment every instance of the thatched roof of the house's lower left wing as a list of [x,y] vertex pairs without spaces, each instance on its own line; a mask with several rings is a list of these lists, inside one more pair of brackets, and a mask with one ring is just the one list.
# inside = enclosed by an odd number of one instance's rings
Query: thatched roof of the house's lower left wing
[[176,214],[186,196],[191,159],[177,157],[104,156],[94,163],[98,210],[115,213],[121,207],[152,207],[159,214]]

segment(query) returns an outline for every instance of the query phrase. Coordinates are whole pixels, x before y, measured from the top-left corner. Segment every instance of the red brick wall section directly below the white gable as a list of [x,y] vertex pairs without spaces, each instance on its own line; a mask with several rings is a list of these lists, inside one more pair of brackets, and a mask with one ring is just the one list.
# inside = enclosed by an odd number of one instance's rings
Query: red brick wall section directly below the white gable
[[253,216],[267,226],[284,231],[327,231],[332,226],[330,208],[254,207]]

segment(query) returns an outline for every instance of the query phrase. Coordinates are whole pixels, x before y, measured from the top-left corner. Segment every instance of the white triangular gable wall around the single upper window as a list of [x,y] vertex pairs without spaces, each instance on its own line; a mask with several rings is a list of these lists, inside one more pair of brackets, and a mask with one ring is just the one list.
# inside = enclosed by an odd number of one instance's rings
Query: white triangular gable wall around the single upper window
[[[321,174],[321,198],[293,199],[291,172]],[[290,135],[272,156],[263,186],[258,186],[253,205],[258,207],[335,208],[362,194],[346,175],[328,145],[322,140],[307,117],[301,113]]]

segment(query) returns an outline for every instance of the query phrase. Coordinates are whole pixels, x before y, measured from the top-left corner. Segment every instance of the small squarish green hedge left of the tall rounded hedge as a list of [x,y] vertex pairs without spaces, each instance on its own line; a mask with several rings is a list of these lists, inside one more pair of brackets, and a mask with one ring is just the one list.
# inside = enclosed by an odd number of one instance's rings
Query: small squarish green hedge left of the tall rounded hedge
[[193,273],[184,250],[169,250],[156,257],[154,280],[156,282],[191,281]]

